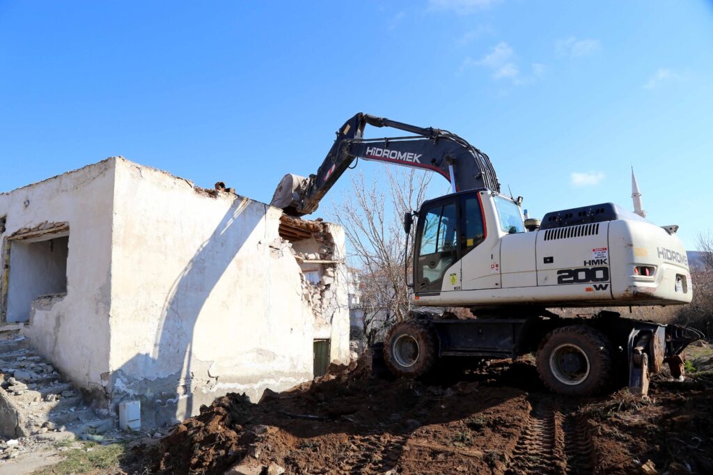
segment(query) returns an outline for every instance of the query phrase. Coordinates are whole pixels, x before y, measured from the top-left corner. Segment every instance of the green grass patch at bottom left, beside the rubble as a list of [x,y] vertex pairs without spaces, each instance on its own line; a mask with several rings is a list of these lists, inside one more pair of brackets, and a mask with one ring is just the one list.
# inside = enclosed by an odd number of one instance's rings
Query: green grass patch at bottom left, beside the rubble
[[[64,442],[59,441],[57,444]],[[98,445],[96,442],[84,442],[81,449],[69,449],[63,452],[63,456],[66,457],[63,461],[35,471],[33,475],[86,474],[97,469],[109,469],[118,466],[124,451],[124,444]]]

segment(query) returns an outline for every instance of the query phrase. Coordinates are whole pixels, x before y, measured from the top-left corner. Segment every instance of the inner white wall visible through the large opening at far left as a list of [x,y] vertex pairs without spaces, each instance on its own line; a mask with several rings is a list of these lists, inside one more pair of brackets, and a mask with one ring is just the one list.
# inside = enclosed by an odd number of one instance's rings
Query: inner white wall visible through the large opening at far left
[[17,240],[11,249],[6,321],[27,322],[33,300],[67,290],[68,237]]

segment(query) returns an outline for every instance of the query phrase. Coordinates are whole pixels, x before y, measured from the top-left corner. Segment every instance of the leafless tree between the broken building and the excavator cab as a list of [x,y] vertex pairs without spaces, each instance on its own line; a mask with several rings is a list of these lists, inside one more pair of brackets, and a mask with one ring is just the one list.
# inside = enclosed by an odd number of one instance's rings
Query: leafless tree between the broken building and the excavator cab
[[404,270],[404,258],[411,262],[411,246],[406,247],[411,239],[402,220],[424,200],[432,177],[419,170],[384,169],[388,190],[355,173],[352,190],[334,204],[332,217],[344,227],[349,257],[358,268],[362,325],[369,343],[384,325],[404,320],[411,308]]

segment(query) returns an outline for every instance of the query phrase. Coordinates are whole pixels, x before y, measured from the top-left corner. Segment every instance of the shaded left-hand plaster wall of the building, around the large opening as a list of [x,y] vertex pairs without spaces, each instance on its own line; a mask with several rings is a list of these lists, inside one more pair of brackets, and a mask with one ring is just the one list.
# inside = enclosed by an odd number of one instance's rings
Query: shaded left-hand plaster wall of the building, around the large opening
[[4,236],[45,221],[69,223],[67,295],[32,314],[26,333],[59,370],[87,387],[98,386],[108,370],[113,183],[114,162],[104,160],[0,194]]

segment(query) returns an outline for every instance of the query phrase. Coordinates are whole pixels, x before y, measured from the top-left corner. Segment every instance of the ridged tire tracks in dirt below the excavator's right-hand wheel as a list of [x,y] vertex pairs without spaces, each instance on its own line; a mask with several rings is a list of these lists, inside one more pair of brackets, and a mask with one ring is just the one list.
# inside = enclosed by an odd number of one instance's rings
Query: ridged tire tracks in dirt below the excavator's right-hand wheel
[[590,474],[591,438],[574,404],[553,397],[529,398],[530,414],[511,454],[507,474]]

